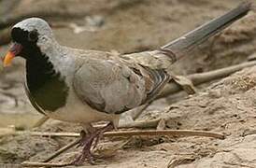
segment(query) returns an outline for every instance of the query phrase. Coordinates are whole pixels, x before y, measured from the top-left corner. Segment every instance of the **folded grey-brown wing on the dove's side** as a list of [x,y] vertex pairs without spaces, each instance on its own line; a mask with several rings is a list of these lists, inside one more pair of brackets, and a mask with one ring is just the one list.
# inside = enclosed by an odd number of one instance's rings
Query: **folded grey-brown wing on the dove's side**
[[166,77],[155,75],[156,72],[149,74],[142,67],[135,69],[112,60],[90,59],[78,69],[73,85],[80,100],[92,108],[120,114],[144,104],[160,90]]

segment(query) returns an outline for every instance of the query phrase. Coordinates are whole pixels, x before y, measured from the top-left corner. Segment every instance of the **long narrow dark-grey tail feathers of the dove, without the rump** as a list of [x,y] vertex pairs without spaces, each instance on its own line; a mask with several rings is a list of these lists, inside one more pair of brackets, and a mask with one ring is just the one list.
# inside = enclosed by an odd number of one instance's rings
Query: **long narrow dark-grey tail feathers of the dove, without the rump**
[[233,22],[247,15],[250,9],[251,3],[244,2],[219,18],[206,22],[188,34],[166,44],[161,50],[163,50],[165,54],[169,54],[172,59],[176,61],[182,57],[184,53],[203,43],[210,36],[218,34]]

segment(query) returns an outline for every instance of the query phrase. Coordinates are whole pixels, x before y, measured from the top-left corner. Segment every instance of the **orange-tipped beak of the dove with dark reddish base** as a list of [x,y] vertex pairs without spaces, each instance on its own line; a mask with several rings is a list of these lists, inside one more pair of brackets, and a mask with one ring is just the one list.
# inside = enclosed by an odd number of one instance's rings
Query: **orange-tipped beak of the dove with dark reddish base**
[[7,51],[7,55],[4,57],[4,66],[8,66],[11,61],[21,52],[22,46],[18,43],[13,43],[11,48]]

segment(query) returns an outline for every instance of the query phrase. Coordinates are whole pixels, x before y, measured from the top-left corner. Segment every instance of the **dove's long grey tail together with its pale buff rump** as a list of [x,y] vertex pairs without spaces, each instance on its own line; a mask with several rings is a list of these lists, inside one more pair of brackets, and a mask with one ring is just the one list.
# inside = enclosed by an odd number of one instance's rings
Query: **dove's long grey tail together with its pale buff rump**
[[189,50],[203,43],[210,36],[216,35],[234,21],[247,15],[250,8],[251,3],[242,3],[219,18],[203,24],[158,50],[126,54],[123,55],[123,58],[126,58],[126,60],[130,58],[131,62],[139,63],[151,69],[169,68],[170,64],[175,63],[186,55]]

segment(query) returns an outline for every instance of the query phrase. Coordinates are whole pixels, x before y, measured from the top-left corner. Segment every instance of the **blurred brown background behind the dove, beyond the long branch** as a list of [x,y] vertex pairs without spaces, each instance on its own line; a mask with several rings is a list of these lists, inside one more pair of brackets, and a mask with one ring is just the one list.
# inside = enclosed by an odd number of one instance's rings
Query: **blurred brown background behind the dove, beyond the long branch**
[[[158,49],[241,0],[0,0],[0,55],[10,28],[29,17],[50,23],[60,44],[78,49],[130,53]],[[194,49],[173,67],[178,75],[243,63],[256,53],[254,12]],[[0,127],[28,128],[41,117],[23,91],[24,61],[0,63]],[[166,99],[166,104],[172,101]],[[159,108],[155,106],[154,108]],[[19,161],[18,161],[19,162]]]

